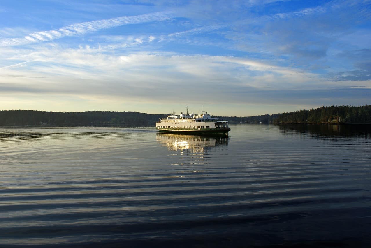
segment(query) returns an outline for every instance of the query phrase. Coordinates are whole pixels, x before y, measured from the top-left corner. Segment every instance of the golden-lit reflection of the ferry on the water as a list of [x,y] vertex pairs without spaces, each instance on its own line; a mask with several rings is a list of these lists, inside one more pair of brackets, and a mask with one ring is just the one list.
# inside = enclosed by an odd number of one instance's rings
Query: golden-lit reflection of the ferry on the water
[[210,151],[211,147],[228,145],[226,136],[196,136],[156,133],[156,139],[170,151],[190,149],[194,153]]

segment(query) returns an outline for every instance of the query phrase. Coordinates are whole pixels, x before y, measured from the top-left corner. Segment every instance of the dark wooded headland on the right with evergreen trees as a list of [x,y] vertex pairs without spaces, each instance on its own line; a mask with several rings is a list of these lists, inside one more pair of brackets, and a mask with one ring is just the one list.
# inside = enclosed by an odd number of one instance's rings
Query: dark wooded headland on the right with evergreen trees
[[311,110],[282,113],[275,123],[371,123],[371,105],[322,106]]

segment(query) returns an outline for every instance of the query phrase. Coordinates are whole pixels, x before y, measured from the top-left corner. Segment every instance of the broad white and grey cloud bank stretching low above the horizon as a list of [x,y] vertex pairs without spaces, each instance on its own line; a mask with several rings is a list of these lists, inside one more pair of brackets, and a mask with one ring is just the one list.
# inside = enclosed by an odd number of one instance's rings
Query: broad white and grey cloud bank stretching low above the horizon
[[[79,111],[96,110],[97,102],[105,105],[102,110],[120,110],[111,104],[116,102],[122,108],[132,106],[127,110],[148,112],[145,105],[174,106],[179,95],[199,106],[216,105],[220,99],[229,106],[287,105],[290,101],[298,106],[307,90],[306,97],[313,102],[313,94],[318,94],[313,93],[314,89],[321,92],[361,83],[326,82],[300,70],[232,56],[164,56],[153,52],[117,56],[88,46],[45,46],[23,54],[22,58],[27,61],[0,69],[1,96],[14,97],[4,102],[7,108],[16,108],[15,99],[19,96],[31,103],[32,99],[42,99],[34,100],[30,108],[40,110],[43,103],[51,106],[47,110],[54,111],[76,111],[73,105],[78,102],[75,105]],[[21,67],[24,65],[27,66]],[[362,83],[371,86],[371,82]],[[295,97],[298,92],[302,93]],[[53,102],[65,103],[65,109]],[[133,109],[137,104],[142,104],[142,109]],[[155,108],[152,111],[157,112]]]

